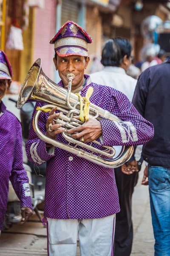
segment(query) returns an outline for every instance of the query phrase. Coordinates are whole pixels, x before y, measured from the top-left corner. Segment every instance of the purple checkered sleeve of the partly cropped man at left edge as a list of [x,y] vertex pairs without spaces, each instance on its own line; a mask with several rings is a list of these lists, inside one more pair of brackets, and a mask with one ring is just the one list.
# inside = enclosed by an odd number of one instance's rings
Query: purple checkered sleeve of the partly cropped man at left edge
[[23,166],[22,129],[19,121],[17,122],[17,137],[15,141],[14,160],[10,181],[17,197],[20,199],[21,207],[30,207],[33,210],[29,190],[29,180]]

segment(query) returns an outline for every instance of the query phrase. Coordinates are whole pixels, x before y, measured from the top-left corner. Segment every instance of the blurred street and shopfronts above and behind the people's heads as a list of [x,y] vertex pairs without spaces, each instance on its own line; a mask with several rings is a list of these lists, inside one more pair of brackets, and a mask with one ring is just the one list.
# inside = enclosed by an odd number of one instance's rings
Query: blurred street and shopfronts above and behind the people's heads
[[103,68],[102,46],[113,37],[130,40],[133,64],[139,69],[148,51],[153,51],[153,44],[155,54],[164,49],[166,56],[170,55],[169,0],[0,0],[0,49],[6,52],[14,73],[9,95],[3,100],[19,119],[20,111],[8,98],[18,98],[37,58],[42,59],[42,70],[51,80],[60,80],[49,41],[68,20],[78,23],[93,38],[88,46],[88,74]]

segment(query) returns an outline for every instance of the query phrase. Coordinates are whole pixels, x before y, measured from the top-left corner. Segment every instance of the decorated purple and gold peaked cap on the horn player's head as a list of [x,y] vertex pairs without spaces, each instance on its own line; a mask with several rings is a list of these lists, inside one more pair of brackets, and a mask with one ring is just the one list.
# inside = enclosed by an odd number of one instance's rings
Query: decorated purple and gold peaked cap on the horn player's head
[[88,56],[88,43],[92,38],[74,21],[68,20],[51,39],[54,49],[60,57],[70,55]]

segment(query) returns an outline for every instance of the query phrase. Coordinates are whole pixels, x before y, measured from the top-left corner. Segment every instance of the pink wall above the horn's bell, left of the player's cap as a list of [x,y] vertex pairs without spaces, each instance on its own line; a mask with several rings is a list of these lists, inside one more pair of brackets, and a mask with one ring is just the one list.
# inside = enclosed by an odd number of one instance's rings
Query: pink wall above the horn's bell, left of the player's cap
[[34,61],[42,59],[42,70],[54,80],[54,45],[49,44],[55,35],[56,0],[45,0],[44,9],[35,10]]

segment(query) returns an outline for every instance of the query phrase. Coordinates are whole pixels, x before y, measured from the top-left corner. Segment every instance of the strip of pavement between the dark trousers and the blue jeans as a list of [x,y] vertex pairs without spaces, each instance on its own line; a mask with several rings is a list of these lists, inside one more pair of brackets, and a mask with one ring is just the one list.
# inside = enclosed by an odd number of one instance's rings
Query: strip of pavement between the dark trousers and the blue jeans
[[143,169],[133,193],[133,249],[131,256],[153,256],[154,236],[148,186],[142,186]]

